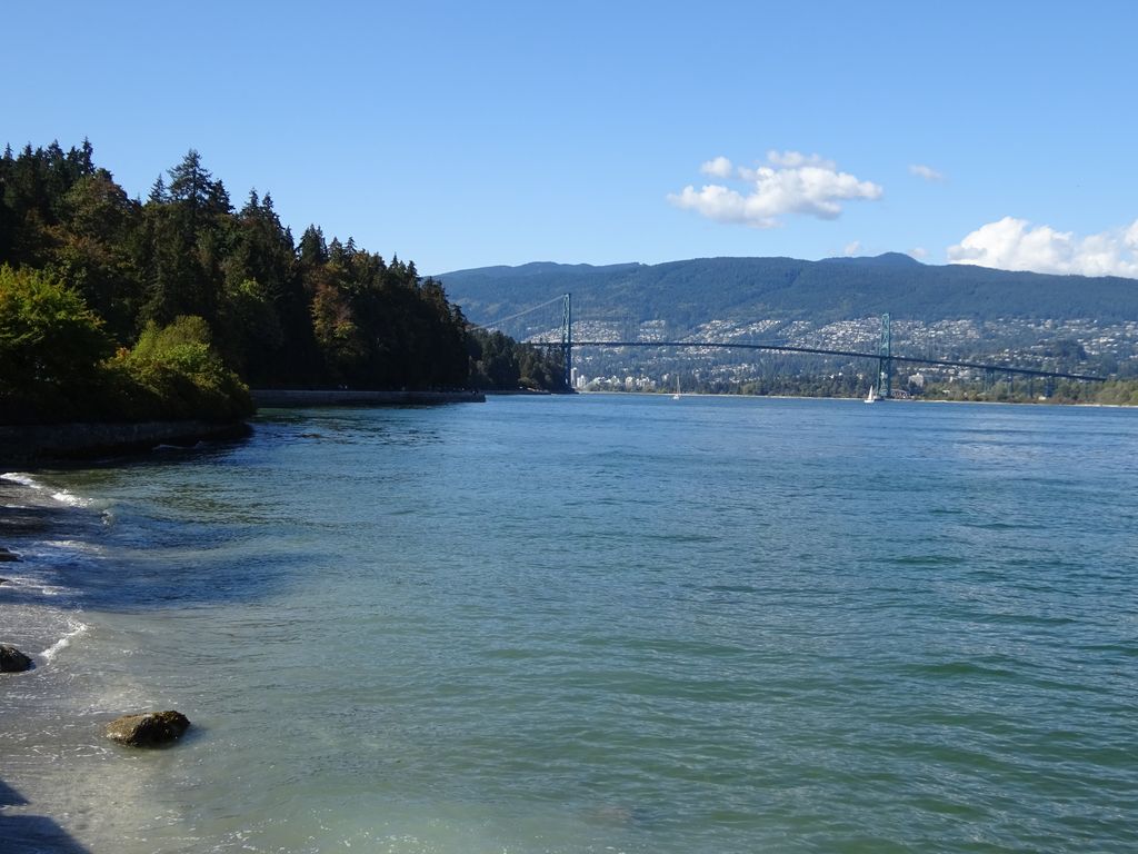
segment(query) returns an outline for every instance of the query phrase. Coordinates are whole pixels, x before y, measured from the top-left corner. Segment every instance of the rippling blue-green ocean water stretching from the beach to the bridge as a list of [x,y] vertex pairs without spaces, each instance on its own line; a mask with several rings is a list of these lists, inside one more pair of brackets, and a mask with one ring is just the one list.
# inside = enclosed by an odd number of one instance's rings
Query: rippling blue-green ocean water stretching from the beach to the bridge
[[1138,849],[1138,412],[496,397],[6,478],[5,852]]

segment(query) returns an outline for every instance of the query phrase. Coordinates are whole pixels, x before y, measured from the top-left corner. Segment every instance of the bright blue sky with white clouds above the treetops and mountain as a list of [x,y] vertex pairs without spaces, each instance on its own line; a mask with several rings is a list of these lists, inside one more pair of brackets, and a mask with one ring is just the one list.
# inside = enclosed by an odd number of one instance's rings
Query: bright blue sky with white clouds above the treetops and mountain
[[[0,145],[423,272],[913,253],[1138,278],[1138,3],[55,2],[5,9]],[[688,189],[690,188],[690,189]]]

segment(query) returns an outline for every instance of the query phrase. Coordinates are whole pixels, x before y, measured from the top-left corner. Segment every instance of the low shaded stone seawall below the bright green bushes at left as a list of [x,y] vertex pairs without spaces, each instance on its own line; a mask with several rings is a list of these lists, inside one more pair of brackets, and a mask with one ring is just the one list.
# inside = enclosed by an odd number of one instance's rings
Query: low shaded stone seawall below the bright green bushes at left
[[98,457],[146,451],[157,445],[191,445],[201,440],[241,438],[249,426],[209,421],[58,424],[0,426],[0,460]]

